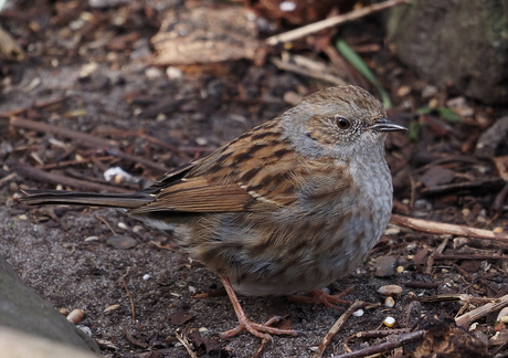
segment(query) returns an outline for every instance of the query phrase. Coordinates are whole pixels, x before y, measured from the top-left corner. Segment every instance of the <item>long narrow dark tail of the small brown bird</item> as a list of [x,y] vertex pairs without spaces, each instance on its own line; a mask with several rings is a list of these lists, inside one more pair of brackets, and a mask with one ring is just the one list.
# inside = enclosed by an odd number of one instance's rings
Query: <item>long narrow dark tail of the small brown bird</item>
[[97,193],[65,190],[22,190],[21,201],[35,204],[81,204],[93,207],[114,207],[134,209],[149,203],[155,198],[148,193]]

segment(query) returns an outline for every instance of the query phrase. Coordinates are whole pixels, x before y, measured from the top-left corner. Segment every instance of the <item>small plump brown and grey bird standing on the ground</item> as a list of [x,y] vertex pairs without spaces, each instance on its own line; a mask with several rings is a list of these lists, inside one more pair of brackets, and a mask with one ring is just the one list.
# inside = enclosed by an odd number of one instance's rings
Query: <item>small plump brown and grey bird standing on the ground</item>
[[318,295],[364,260],[391,215],[384,139],[394,130],[405,128],[367,91],[330,87],[139,192],[27,190],[22,200],[124,208],[174,232],[224,284],[240,325],[223,337],[296,335],[271,327],[279,317],[251,322],[235,292]]

